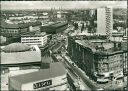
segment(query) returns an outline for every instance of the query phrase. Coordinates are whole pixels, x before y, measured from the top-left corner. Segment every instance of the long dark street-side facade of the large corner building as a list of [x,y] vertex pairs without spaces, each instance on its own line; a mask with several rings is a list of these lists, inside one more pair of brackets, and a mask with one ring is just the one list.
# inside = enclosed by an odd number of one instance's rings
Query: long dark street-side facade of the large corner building
[[82,45],[81,41],[73,38],[68,38],[68,55],[78,65],[79,68],[85,71],[85,73],[91,77],[94,72],[93,65],[93,50],[86,45]]

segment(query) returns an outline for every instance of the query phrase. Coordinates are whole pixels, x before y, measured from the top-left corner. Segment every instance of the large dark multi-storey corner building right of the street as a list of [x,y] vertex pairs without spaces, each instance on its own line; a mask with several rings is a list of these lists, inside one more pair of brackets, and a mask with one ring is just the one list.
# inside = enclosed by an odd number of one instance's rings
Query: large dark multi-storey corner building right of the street
[[108,82],[111,76],[123,77],[128,51],[121,50],[122,44],[90,41],[68,39],[68,54],[78,67],[98,82]]

